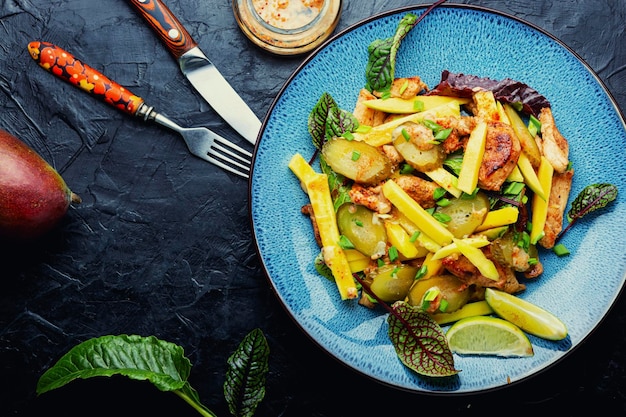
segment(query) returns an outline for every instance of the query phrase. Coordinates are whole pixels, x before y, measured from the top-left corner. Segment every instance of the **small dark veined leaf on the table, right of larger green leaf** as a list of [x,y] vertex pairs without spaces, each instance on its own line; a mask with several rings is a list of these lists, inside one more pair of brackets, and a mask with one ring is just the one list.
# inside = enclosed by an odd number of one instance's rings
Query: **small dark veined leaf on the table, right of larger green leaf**
[[228,358],[224,397],[235,417],[252,417],[265,396],[270,350],[260,329],[254,329]]

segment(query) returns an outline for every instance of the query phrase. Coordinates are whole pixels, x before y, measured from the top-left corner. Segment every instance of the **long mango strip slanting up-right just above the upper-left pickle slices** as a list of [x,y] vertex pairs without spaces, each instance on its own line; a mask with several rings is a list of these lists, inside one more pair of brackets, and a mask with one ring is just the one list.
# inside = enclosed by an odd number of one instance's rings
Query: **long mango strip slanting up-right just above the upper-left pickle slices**
[[439,117],[449,117],[455,116],[460,117],[461,108],[459,106],[458,101],[451,101],[448,104],[444,104],[439,107],[435,107],[430,110],[426,110],[423,112],[410,114],[408,116],[400,117],[398,119],[394,119],[390,122],[383,123],[378,126],[374,126],[369,129],[367,132],[354,132],[355,140],[362,140],[374,147],[387,145],[391,143],[392,137],[391,133],[393,130],[406,122],[415,122],[419,123],[425,119],[437,119]]

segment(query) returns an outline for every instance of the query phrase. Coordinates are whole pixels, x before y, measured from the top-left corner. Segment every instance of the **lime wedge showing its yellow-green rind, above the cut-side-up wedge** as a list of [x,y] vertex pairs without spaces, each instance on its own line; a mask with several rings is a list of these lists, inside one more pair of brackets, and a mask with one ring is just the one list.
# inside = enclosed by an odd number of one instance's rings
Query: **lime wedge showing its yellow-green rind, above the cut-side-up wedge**
[[493,311],[525,332],[547,340],[567,337],[567,327],[554,314],[504,291],[487,288],[485,301]]

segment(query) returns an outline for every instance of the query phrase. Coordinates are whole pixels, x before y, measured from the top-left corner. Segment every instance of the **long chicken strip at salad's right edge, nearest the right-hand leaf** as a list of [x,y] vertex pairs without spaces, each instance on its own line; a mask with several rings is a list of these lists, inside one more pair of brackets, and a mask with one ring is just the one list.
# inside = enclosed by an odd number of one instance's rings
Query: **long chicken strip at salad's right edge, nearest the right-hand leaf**
[[548,199],[548,216],[543,227],[544,235],[539,239],[539,244],[546,249],[554,247],[556,238],[563,229],[563,214],[567,208],[567,198],[572,189],[573,176],[573,169],[562,174],[555,172],[552,176],[552,188]]

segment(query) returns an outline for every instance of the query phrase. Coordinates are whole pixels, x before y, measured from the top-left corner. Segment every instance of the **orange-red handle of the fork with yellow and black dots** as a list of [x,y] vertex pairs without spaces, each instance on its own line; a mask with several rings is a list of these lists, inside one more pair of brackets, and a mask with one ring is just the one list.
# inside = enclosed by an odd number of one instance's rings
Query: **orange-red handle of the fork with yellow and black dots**
[[28,52],[42,68],[128,114],[135,115],[143,104],[142,98],[56,45],[33,41]]

